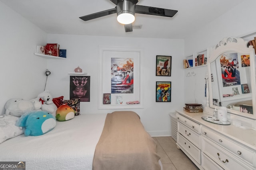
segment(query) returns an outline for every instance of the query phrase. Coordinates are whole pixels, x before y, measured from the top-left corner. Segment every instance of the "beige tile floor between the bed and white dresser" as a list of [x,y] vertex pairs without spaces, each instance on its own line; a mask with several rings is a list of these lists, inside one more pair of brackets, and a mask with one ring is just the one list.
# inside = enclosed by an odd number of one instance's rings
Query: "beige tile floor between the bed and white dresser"
[[156,152],[161,157],[164,170],[199,170],[196,165],[177,149],[172,137],[153,137],[157,143]]

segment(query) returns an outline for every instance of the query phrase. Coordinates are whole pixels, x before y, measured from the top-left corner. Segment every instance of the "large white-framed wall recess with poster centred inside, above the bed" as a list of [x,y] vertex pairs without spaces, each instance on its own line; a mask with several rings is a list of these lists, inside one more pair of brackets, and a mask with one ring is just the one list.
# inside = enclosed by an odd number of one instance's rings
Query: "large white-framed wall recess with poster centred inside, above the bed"
[[[142,49],[99,47],[99,55],[98,108],[143,108]],[[102,102],[105,93],[111,93],[110,104]],[[133,101],[139,104],[126,104]]]

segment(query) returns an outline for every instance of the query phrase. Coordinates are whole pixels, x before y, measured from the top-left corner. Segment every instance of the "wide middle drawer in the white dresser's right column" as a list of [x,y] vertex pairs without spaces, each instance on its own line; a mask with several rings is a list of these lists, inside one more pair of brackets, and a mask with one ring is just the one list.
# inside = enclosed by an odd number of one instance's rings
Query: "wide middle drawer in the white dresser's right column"
[[252,170],[252,166],[236,159],[206,137],[202,137],[202,151],[225,170]]

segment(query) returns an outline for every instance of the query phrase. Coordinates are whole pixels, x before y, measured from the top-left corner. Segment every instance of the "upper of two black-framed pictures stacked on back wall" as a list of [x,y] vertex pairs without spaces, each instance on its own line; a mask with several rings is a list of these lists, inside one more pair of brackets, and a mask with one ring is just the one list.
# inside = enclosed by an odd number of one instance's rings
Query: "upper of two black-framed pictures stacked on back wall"
[[172,56],[156,56],[156,76],[171,76]]

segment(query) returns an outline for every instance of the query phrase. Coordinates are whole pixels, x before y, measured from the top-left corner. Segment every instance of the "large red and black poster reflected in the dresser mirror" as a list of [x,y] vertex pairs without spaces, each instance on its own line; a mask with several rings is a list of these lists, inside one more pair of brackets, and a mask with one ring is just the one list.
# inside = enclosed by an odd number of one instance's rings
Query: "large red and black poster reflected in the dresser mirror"
[[237,53],[222,54],[220,67],[223,87],[240,85],[240,72]]

